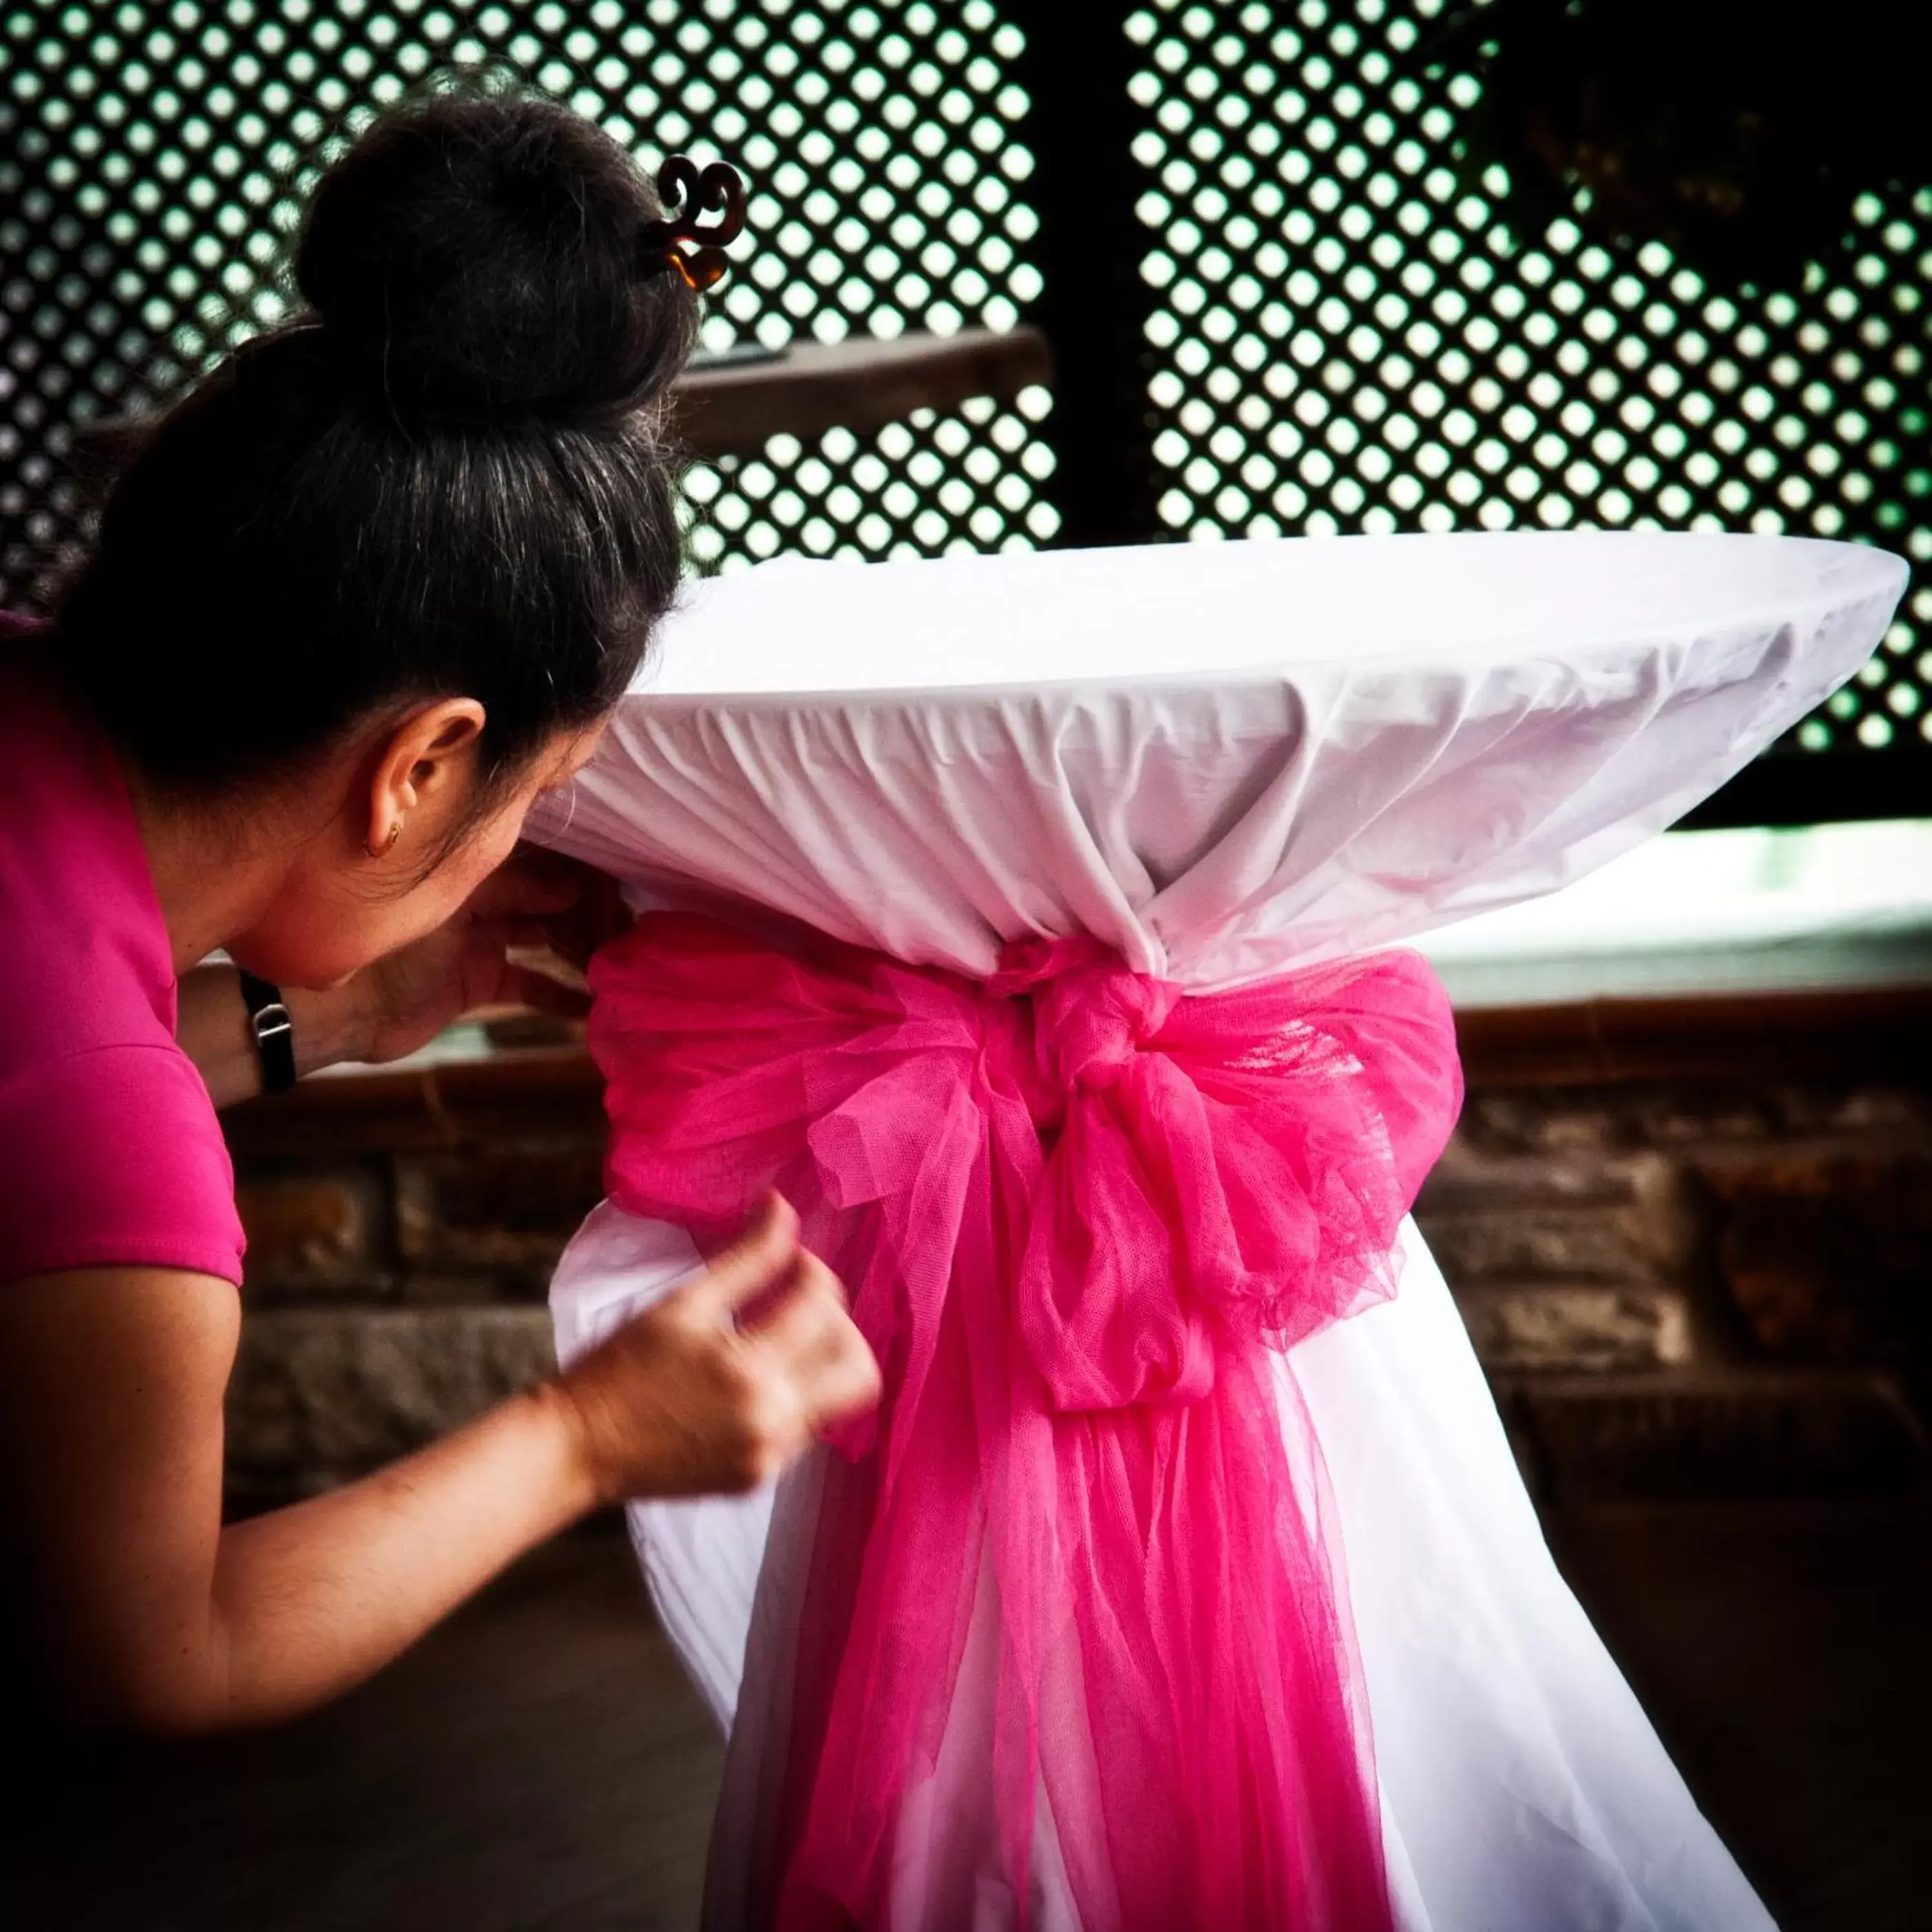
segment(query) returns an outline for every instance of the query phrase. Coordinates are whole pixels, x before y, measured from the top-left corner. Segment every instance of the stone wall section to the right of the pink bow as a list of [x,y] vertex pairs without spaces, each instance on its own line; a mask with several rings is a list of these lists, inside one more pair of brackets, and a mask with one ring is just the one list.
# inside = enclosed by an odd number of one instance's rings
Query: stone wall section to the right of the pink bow
[[1416,1215],[1532,1488],[1924,1484],[1926,1086],[1472,1086]]

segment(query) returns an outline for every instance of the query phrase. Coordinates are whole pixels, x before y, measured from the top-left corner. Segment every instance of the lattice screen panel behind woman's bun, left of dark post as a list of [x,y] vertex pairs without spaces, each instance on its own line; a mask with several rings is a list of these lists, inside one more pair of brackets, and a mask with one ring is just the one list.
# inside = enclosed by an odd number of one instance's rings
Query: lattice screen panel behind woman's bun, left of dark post
[[[989,0],[14,4],[0,27],[0,595],[71,520],[66,427],[284,313],[303,185],[431,66],[500,62],[649,164],[723,155],[750,243],[705,348],[1010,327],[1037,290],[1014,29]],[[690,479],[703,564],[1051,537],[1047,398]]]

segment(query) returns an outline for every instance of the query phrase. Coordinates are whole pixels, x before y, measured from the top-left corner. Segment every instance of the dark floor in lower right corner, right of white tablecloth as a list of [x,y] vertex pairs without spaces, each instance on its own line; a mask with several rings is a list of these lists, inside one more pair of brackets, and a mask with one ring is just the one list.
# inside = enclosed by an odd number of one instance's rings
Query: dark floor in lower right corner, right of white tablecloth
[[1924,1932],[1932,1511],[1605,1505],[1546,1528],[1785,1932]]

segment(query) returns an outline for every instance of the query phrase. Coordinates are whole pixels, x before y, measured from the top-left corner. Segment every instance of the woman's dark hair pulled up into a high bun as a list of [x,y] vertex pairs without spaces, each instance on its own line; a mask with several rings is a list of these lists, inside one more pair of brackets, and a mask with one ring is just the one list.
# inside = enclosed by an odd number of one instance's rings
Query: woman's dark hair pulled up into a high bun
[[54,611],[149,782],[270,777],[444,696],[502,781],[616,701],[678,585],[697,298],[639,259],[661,214],[597,128],[500,93],[412,100],[321,178],[307,311],[137,433]]

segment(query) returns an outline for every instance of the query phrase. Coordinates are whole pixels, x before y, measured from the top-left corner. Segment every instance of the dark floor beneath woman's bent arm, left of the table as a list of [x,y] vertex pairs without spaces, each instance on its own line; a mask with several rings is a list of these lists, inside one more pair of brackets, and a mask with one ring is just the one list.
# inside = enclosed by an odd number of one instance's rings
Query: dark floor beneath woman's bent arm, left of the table
[[585,1530],[315,1718],[91,1748],[0,1864],[0,1926],[668,1932],[721,1760],[622,1532]]

